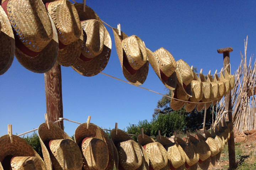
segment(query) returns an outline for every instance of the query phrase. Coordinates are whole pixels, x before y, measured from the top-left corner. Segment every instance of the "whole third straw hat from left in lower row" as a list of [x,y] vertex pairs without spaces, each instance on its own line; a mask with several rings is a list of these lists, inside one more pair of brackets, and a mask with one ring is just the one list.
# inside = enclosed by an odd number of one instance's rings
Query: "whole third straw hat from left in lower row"
[[113,169],[114,160],[118,158],[115,158],[112,141],[100,127],[92,123],[88,129],[86,127],[87,123],[83,123],[75,131],[75,142],[82,152],[83,169]]

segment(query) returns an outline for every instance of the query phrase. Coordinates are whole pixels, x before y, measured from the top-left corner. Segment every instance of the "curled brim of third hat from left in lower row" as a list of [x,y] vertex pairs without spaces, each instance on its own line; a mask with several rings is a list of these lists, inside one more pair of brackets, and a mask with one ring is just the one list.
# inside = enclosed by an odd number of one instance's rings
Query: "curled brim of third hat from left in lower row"
[[75,130],[75,142],[79,145],[81,145],[81,142],[84,138],[86,137],[94,137],[97,139],[100,139],[104,142],[106,142],[107,147],[108,147],[108,155],[109,155],[109,161],[106,169],[113,169],[114,167],[114,162],[117,162],[114,156],[114,148],[112,141],[108,137],[105,131],[103,131],[100,127],[98,127],[95,124],[90,123],[89,128],[87,128],[87,123],[83,123],[78,126]]

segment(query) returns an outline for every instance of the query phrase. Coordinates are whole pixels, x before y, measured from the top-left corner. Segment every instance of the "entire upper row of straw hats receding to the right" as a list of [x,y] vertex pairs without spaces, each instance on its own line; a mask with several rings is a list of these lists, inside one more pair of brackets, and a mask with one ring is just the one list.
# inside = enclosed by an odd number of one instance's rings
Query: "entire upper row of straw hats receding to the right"
[[[0,74],[11,66],[14,51],[27,69],[44,73],[57,62],[84,76],[94,76],[107,65],[111,54],[110,34],[88,6],[68,0],[2,0],[0,7]],[[173,90],[171,108],[188,112],[214,104],[234,87],[234,76],[210,73],[199,77],[183,60],[175,61],[164,48],[151,52],[136,35],[112,28],[124,77],[142,85],[149,63],[162,83]],[[197,103],[202,102],[202,103]]]

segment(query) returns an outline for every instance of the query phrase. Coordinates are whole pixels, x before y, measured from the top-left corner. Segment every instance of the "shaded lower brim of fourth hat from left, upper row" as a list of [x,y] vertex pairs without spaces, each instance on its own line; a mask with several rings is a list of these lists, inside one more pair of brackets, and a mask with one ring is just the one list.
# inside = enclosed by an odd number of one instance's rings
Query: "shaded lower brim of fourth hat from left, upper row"
[[[102,72],[107,66],[107,63],[110,59],[112,42],[110,34],[108,33],[106,27],[105,28],[105,38],[104,38],[104,46],[100,55],[92,58],[89,61],[83,61],[80,58],[76,61],[76,63],[71,66],[76,72],[86,77],[91,77],[97,75]],[[85,34],[85,32],[84,32]],[[85,39],[84,39],[85,41]],[[85,42],[83,42],[85,45]]]

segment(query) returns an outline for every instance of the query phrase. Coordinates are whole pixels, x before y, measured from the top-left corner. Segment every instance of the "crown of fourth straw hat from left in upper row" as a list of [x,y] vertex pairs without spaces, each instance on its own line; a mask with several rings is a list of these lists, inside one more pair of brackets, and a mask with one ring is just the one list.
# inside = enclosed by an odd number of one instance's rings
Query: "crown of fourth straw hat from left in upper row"
[[84,39],[86,43],[83,46],[82,54],[87,58],[94,58],[103,50],[105,27],[96,19],[82,21],[81,26],[84,29],[84,37],[86,37]]

